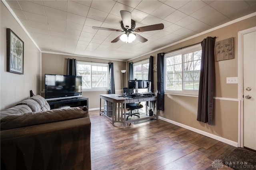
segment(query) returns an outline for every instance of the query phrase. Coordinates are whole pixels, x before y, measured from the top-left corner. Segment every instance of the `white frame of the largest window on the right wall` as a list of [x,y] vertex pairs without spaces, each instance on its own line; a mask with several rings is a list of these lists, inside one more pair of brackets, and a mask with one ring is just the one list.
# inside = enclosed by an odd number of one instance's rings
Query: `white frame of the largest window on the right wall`
[[[173,95],[184,95],[184,96],[194,96],[198,97],[198,90],[186,90],[184,89],[184,61],[183,61],[183,55],[186,53],[192,53],[195,51],[200,51],[202,50],[201,44],[194,45],[191,47],[187,47],[178,51],[174,51],[172,53],[165,54],[164,56],[164,93],[166,94],[173,94]],[[166,58],[174,56],[174,55],[181,55],[182,58],[182,90],[168,90],[166,89],[166,76],[167,76],[167,71],[166,71]]]

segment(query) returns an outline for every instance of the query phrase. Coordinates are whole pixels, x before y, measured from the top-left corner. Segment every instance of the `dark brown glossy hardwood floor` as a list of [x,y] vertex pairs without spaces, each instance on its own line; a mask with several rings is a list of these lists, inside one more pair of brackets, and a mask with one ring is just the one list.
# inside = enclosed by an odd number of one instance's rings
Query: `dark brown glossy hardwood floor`
[[235,149],[159,119],[113,126],[99,110],[90,119],[92,170],[216,170],[212,162]]

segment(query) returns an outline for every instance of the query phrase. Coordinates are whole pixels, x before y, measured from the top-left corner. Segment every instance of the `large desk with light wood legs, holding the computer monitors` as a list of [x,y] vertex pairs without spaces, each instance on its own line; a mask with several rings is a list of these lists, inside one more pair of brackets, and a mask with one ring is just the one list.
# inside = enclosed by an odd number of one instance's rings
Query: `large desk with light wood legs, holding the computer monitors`
[[[107,101],[111,102],[112,104],[112,115],[106,114],[106,111],[102,111],[101,109],[101,101]],[[153,116],[133,119],[126,121],[126,103],[135,103],[135,102],[142,102],[142,101],[148,101],[150,103],[156,102],[156,96],[152,97],[139,97],[139,98],[129,98],[129,97],[118,97],[116,94],[109,94],[109,95],[100,95],[100,115],[104,116],[106,119],[108,119],[110,122],[112,122],[112,125],[114,125],[115,122],[123,123],[124,126],[126,126],[126,123],[132,123],[137,121],[142,121],[146,119],[152,119],[152,118],[158,118],[158,113],[154,109]],[[152,107],[152,105],[151,105]],[[112,117],[112,118],[111,118]]]

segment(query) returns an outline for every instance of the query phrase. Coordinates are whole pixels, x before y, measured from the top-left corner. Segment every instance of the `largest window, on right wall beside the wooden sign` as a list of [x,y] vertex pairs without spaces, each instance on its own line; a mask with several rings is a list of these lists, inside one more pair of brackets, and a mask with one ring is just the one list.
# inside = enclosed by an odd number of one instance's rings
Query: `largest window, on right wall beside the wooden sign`
[[201,45],[165,56],[165,91],[197,95],[201,67]]

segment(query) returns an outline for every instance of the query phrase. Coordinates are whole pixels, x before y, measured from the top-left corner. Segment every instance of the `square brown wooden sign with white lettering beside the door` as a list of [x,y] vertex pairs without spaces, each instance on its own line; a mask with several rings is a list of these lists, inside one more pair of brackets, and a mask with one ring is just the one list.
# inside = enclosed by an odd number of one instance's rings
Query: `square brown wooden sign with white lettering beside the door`
[[234,37],[215,42],[215,61],[234,58]]

